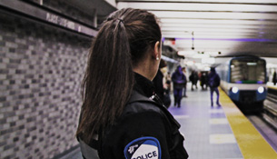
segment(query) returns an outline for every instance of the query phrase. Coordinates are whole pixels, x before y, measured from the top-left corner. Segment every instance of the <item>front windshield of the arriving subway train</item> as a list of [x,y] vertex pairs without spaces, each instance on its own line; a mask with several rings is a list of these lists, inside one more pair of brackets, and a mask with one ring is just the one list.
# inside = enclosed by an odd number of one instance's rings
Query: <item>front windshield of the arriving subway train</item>
[[265,61],[259,59],[232,60],[231,83],[265,84]]

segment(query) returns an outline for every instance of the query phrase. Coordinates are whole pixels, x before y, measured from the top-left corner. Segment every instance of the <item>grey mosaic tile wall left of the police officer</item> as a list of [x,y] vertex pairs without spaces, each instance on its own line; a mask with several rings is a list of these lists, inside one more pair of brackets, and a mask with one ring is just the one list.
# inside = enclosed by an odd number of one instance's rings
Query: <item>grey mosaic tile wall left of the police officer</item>
[[0,158],[53,158],[77,145],[91,39],[3,13],[0,24]]

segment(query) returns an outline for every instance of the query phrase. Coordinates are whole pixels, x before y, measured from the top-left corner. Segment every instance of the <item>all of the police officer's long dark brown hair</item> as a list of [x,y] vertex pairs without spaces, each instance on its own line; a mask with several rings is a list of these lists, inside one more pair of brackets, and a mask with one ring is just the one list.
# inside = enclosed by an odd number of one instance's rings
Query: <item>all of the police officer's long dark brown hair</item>
[[84,103],[76,135],[89,143],[124,110],[134,86],[134,66],[161,41],[155,16],[124,8],[109,15],[94,38],[82,84]]

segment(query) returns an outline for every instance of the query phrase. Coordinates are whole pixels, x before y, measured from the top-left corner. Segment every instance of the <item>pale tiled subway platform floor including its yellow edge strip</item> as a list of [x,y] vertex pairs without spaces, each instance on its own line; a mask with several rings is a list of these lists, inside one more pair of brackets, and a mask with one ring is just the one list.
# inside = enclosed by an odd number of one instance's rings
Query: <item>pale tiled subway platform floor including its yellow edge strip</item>
[[[188,85],[190,88],[190,85]],[[181,124],[190,159],[276,159],[277,154],[244,114],[220,90],[221,106],[210,102],[210,91],[187,90],[181,107],[169,111]],[[173,95],[172,101],[173,101]],[[213,95],[214,100],[216,95]],[[277,136],[276,136],[277,137]],[[62,159],[81,159],[80,149]]]

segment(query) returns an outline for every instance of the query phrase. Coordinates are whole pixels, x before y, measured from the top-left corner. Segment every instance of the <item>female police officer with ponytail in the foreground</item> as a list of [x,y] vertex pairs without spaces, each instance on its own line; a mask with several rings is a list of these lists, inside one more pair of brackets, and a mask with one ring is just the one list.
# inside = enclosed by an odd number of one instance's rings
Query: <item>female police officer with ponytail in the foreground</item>
[[124,8],[94,37],[76,137],[85,159],[186,159],[180,124],[153,90],[162,56],[156,17]]

